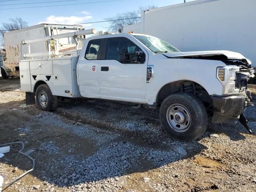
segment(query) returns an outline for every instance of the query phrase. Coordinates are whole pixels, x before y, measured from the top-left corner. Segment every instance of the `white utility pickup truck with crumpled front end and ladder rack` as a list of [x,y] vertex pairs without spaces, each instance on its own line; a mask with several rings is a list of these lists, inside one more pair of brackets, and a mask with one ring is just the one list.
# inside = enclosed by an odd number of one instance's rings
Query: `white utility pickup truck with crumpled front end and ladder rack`
[[[88,31],[95,33],[79,35]],[[49,38],[60,36],[34,41]],[[20,61],[21,90],[28,104],[36,96],[41,110],[52,111],[63,96],[160,106],[164,130],[181,141],[201,136],[208,116],[215,123],[239,120],[251,133],[243,112],[253,105],[247,82],[254,74],[250,60],[239,53],[180,52],[153,36],[119,33],[87,38],[78,53],[70,54],[42,59],[23,54],[32,58]]]

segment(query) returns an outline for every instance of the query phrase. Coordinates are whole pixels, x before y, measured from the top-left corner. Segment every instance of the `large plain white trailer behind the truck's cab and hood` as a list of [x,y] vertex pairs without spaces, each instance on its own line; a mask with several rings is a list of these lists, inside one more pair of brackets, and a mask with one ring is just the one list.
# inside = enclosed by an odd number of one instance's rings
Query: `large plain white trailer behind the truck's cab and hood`
[[197,0],[141,12],[122,32],[156,36],[181,51],[230,50],[256,68],[256,0]]

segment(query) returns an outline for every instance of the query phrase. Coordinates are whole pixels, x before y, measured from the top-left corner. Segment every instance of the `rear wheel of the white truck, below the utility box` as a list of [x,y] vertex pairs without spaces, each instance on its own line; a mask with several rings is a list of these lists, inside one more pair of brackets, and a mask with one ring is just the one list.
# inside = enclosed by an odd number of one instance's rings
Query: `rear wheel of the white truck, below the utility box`
[[58,105],[58,96],[52,95],[47,84],[42,84],[36,89],[36,104],[43,111],[54,111]]

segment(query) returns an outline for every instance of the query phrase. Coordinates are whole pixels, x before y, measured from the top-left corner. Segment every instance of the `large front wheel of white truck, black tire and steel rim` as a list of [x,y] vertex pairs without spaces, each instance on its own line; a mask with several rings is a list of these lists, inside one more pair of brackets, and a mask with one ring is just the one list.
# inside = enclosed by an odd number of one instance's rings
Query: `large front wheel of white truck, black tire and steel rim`
[[160,120],[168,135],[179,141],[190,141],[205,132],[208,115],[204,104],[196,96],[176,93],[162,102]]

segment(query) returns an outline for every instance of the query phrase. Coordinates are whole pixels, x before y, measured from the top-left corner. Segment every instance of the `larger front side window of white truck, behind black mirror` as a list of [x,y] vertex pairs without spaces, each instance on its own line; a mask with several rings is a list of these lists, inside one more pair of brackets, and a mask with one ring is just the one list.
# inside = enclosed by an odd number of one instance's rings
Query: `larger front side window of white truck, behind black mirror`
[[[140,54],[139,54],[140,53]],[[117,60],[124,64],[144,63],[142,50],[126,38],[110,38],[106,47],[106,60]]]

